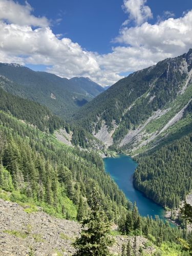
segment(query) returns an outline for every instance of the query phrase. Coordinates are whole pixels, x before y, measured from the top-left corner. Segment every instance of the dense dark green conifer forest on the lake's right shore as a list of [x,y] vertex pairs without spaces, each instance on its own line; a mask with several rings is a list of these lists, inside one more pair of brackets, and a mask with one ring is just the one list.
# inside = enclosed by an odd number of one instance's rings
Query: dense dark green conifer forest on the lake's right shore
[[178,207],[191,190],[192,143],[189,134],[139,157],[134,185],[158,204]]

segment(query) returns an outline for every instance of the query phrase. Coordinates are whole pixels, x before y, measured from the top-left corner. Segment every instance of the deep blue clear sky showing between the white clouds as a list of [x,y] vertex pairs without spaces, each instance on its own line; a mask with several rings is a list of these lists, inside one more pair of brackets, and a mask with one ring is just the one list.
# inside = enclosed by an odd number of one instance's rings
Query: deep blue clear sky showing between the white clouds
[[[24,0],[18,1],[25,4]],[[100,54],[111,52],[112,39],[118,35],[119,28],[127,14],[123,12],[121,0],[28,0],[34,8],[35,16],[46,16],[53,22],[53,32],[63,34],[82,48],[96,51]],[[182,13],[192,8],[191,0],[148,0],[154,18],[152,24],[157,22],[158,16],[164,11],[180,17]],[[57,19],[62,19],[58,23]],[[130,26],[134,26],[131,23]]]

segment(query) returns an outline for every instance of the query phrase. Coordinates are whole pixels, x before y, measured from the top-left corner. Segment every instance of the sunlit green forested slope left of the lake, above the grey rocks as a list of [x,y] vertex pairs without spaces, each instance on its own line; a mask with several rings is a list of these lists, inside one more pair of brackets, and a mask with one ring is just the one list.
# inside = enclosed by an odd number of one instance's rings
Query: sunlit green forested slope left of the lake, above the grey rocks
[[[97,184],[110,220],[117,221],[120,212],[126,211],[124,194],[104,172],[103,161],[96,153],[66,146],[3,112],[0,131],[5,140],[1,168],[4,184],[1,181],[0,187],[12,191],[10,200],[30,201],[51,215],[75,220],[80,198],[89,198]],[[5,187],[7,183],[9,187]],[[86,200],[83,208],[86,215]]]

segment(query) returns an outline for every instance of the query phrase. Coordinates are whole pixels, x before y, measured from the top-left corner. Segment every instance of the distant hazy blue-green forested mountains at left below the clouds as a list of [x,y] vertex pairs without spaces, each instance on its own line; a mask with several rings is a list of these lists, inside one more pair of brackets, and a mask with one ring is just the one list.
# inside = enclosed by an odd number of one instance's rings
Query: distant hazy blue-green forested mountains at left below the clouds
[[[4,90],[46,105],[54,114],[63,118],[71,116],[79,107],[102,92],[98,84],[86,78],[86,85],[83,87],[83,80],[80,86],[75,80],[35,72],[14,63],[0,63],[0,75],[4,80],[10,80],[9,83],[4,83]],[[92,89],[87,92],[85,88],[89,88],[89,84]]]

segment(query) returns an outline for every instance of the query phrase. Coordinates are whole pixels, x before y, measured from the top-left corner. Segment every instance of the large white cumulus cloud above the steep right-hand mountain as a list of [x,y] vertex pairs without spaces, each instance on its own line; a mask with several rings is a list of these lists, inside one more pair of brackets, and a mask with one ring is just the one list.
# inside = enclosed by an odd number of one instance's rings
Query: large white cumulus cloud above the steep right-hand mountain
[[192,11],[180,18],[168,18],[159,24],[144,23],[140,27],[122,28],[116,41],[152,52],[178,54],[191,47]]

